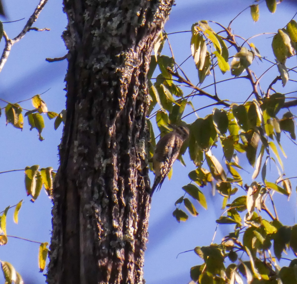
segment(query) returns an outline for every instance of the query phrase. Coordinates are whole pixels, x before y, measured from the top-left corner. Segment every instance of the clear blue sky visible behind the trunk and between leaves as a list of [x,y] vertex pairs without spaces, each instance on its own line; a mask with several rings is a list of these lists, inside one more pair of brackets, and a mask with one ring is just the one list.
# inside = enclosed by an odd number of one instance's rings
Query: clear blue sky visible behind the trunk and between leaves
[[[38,0],[4,0],[9,20],[27,19],[37,3]],[[192,23],[199,20],[215,20],[228,25],[231,18],[251,3],[252,1],[236,0],[178,0],[165,25],[165,30],[167,33],[189,30]],[[263,3],[260,6],[260,20],[257,23],[252,21],[249,11],[246,11],[235,21],[233,28],[237,34],[246,38],[263,31],[276,32],[278,28],[285,26],[293,17],[296,6],[293,6],[292,3],[293,1],[284,1],[281,5],[278,5],[277,12],[274,15],[267,11],[265,3]],[[16,23],[4,24],[4,29],[9,37],[14,37],[23,28],[25,22],[26,20],[22,20]],[[9,102],[16,102],[40,94],[50,88],[49,91],[42,95],[48,110],[59,113],[65,107],[65,91],[63,89],[67,62],[48,63],[45,58],[60,57],[66,53],[64,42],[61,39],[61,33],[66,23],[61,1],[48,1],[34,26],[50,28],[50,31],[30,31],[12,47],[7,63],[0,73],[0,98]],[[182,62],[190,54],[190,34],[176,34],[170,36],[169,39],[173,46],[176,61]],[[262,36],[255,38],[253,42],[260,52],[264,53],[264,45],[271,42],[271,39]],[[4,42],[2,40],[0,43],[1,50],[3,46]],[[167,47],[165,47],[164,52],[168,52]],[[268,55],[271,56],[271,52]],[[272,56],[271,59],[273,59]],[[252,67],[259,70],[259,72],[263,68],[261,64],[257,65],[255,62]],[[185,64],[185,70],[187,75],[190,74],[190,78],[195,81],[197,72],[191,60]],[[271,81],[273,75],[275,75],[275,72],[271,77],[268,75],[265,80],[267,82]],[[230,88],[229,83],[222,84],[220,86],[222,97],[227,94],[229,99],[245,100],[247,93],[242,92],[245,87],[244,84],[247,84],[247,82],[238,81],[237,84],[232,85],[232,88]],[[248,84],[246,87],[249,87]],[[291,91],[293,90],[294,87],[292,86]],[[290,91],[290,86],[287,91]],[[209,102],[209,100],[204,99],[193,101],[194,105],[195,103],[197,105],[207,105]],[[4,107],[5,103],[0,102],[0,106]],[[31,102],[23,103],[22,107],[32,108]],[[211,109],[206,109],[199,112],[198,115],[203,117],[210,111]],[[189,119],[189,121],[193,121],[195,117],[192,116]],[[40,165],[40,167],[52,166],[57,169],[57,145],[60,142],[61,130],[62,127],[55,131],[53,121],[49,121],[45,117],[45,130],[42,132],[45,140],[40,142],[37,131],[35,129],[29,131],[26,120],[24,129],[21,132],[11,125],[5,126],[5,116],[2,114],[0,118],[0,153],[2,160],[0,171],[21,169],[27,165],[35,164]],[[296,147],[287,139],[283,141],[287,154],[292,151],[292,147]],[[222,198],[218,194],[212,197],[210,188],[203,188],[208,200],[208,210],[206,211],[200,205],[197,205],[198,217],[189,217],[186,223],[176,222],[172,216],[175,209],[174,202],[183,195],[181,187],[189,182],[187,174],[194,168],[188,157],[185,160],[187,167],[185,168],[179,162],[176,162],[172,179],[170,181],[166,179],[162,189],[153,196],[149,223],[149,242],[144,267],[145,279],[148,284],[188,283],[190,280],[190,267],[200,264],[201,260],[193,252],[176,257],[178,253],[191,250],[195,246],[209,245],[216,227],[214,220],[221,214],[219,208],[221,207]],[[293,155],[288,156],[286,159],[285,172],[287,176],[296,175],[292,166],[295,165],[295,162]],[[248,167],[247,164],[245,166]],[[250,168],[249,171],[252,172],[252,169]],[[275,171],[272,171],[272,179],[274,175]],[[153,175],[151,177],[153,178]],[[248,175],[245,177],[247,183],[252,181]],[[292,184],[294,188],[296,182],[293,181]],[[29,198],[26,197],[23,172],[1,174],[0,211],[8,205],[16,204],[21,199],[24,199],[24,204],[20,210],[19,223],[15,225],[12,222],[13,210],[11,210],[8,213],[7,234],[40,242],[49,242],[51,230],[51,202],[49,198],[42,192],[37,201],[31,203]],[[283,204],[287,210],[295,213],[295,201],[296,196],[293,194],[290,203],[287,203],[286,198],[283,196],[279,196],[276,202]],[[287,211],[279,212],[280,219],[284,223],[286,222],[287,225],[292,225],[294,216],[293,214],[287,216],[286,213]],[[220,227],[216,236],[217,242],[220,242],[222,236],[229,232],[228,229],[228,227]],[[11,262],[24,277],[25,283],[28,284],[45,283],[45,277],[38,272],[37,254],[38,244],[13,238],[9,239],[7,245],[0,247],[0,260]],[[0,282],[2,281],[1,277],[0,275]]]

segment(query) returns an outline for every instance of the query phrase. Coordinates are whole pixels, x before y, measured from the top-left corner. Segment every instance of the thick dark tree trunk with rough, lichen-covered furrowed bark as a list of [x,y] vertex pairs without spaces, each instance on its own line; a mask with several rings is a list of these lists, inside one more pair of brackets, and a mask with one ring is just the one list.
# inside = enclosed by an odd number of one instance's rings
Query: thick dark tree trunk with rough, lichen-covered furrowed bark
[[146,74],[174,0],[64,0],[67,116],[49,284],[144,283]]

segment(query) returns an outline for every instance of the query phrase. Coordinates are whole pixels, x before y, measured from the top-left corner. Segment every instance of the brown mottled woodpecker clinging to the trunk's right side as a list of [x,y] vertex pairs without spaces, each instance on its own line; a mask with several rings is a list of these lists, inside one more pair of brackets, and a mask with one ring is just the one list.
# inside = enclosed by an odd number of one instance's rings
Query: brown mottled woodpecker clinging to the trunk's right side
[[157,190],[161,188],[165,177],[179,155],[182,144],[188,137],[189,129],[185,126],[178,126],[158,141],[152,158],[155,179],[151,187],[151,195],[156,188]]

